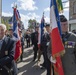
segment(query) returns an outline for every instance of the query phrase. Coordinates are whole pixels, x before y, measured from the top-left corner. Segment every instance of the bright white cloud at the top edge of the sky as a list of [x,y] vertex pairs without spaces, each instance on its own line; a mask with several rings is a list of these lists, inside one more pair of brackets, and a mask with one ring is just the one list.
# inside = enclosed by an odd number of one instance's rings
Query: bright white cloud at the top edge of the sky
[[22,10],[37,10],[38,7],[35,5],[34,0],[17,0],[17,4],[19,5],[19,9]]

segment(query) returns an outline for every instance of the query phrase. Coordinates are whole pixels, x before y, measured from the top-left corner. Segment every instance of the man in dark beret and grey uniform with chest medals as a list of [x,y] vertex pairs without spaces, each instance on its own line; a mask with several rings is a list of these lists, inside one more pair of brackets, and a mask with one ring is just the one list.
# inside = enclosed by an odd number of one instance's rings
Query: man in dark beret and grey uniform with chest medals
[[68,31],[68,21],[60,15],[65,54],[61,57],[64,75],[76,75],[76,35]]

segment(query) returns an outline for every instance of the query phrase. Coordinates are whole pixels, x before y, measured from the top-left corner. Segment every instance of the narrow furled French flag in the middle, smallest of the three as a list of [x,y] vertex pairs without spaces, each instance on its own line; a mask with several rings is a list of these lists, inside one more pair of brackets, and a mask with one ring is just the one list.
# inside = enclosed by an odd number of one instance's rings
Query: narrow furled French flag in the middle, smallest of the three
[[39,32],[38,32],[38,47],[39,48],[40,48],[40,44],[42,40],[42,35],[44,33],[44,24],[45,24],[45,20],[44,20],[44,13],[43,13],[41,24],[39,25]]

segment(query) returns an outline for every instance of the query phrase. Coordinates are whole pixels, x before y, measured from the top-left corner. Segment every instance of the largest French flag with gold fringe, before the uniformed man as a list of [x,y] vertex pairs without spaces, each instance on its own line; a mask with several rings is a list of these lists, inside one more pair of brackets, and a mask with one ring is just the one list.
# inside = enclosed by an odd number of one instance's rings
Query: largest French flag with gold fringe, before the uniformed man
[[57,75],[64,75],[60,56],[65,51],[61,39],[60,19],[56,0],[51,0],[50,4],[50,26],[52,28],[51,31],[52,57],[56,59],[56,63],[54,64],[54,72]]

